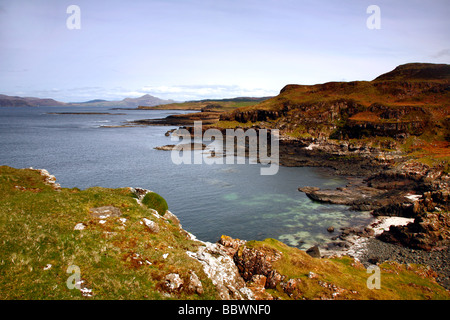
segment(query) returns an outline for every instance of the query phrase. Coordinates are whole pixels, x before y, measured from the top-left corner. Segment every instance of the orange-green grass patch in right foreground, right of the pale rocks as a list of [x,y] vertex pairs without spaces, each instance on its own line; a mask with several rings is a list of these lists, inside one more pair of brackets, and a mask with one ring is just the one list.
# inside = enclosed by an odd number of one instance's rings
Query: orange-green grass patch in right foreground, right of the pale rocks
[[[312,258],[304,251],[289,247],[275,239],[247,242],[247,247],[270,252],[276,250],[281,258],[272,266],[288,279],[301,279],[296,295],[288,296],[278,288],[269,293],[282,299],[363,299],[363,300],[428,300],[450,299],[449,293],[436,283],[433,272],[418,265],[386,262],[380,267],[380,289],[369,289],[371,274],[359,262],[344,256],[334,259]],[[316,278],[309,278],[313,272]],[[324,286],[332,284],[336,290]]]

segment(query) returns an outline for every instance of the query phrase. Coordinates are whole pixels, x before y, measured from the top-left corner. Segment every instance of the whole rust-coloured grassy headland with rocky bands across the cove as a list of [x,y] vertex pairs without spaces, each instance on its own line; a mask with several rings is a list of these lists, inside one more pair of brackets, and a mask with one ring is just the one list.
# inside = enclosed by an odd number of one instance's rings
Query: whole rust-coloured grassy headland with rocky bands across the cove
[[450,66],[413,63],[373,81],[287,85],[276,97],[223,113],[215,126],[253,124],[290,138],[356,139],[448,161]]

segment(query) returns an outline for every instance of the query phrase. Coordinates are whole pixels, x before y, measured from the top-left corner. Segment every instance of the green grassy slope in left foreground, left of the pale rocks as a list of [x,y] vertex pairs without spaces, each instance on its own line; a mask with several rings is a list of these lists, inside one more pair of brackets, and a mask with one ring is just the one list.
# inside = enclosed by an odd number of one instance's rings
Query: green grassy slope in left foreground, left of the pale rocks
[[[217,298],[200,263],[185,253],[199,243],[153,216],[127,188],[55,191],[37,171],[3,166],[0,194],[0,299]],[[89,208],[106,205],[121,210],[125,225],[118,217],[101,224],[89,214]],[[144,217],[158,224],[158,234],[140,223]],[[78,223],[86,228],[74,230]],[[164,253],[169,253],[165,259]],[[44,270],[48,264],[52,267]],[[71,265],[80,268],[93,297],[67,288]],[[167,274],[179,273],[187,281],[191,270],[202,281],[202,295],[167,295],[161,289]]]

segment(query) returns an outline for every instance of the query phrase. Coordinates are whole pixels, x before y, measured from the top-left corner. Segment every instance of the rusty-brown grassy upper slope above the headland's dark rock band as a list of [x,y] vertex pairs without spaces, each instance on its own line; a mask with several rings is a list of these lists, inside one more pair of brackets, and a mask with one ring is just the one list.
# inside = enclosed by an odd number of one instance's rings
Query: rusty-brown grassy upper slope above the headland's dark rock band
[[396,106],[450,106],[450,65],[406,64],[373,81],[328,82],[317,85],[287,85],[280,94],[235,112],[282,111],[303,104],[326,104],[348,100],[369,107],[374,103]]

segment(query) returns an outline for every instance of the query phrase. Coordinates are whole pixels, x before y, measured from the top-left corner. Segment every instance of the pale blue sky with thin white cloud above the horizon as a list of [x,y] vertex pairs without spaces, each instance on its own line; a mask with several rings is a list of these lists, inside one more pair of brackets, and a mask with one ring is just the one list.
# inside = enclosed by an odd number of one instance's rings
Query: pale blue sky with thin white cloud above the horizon
[[186,101],[370,81],[450,63],[449,17],[449,0],[0,0],[0,94]]

